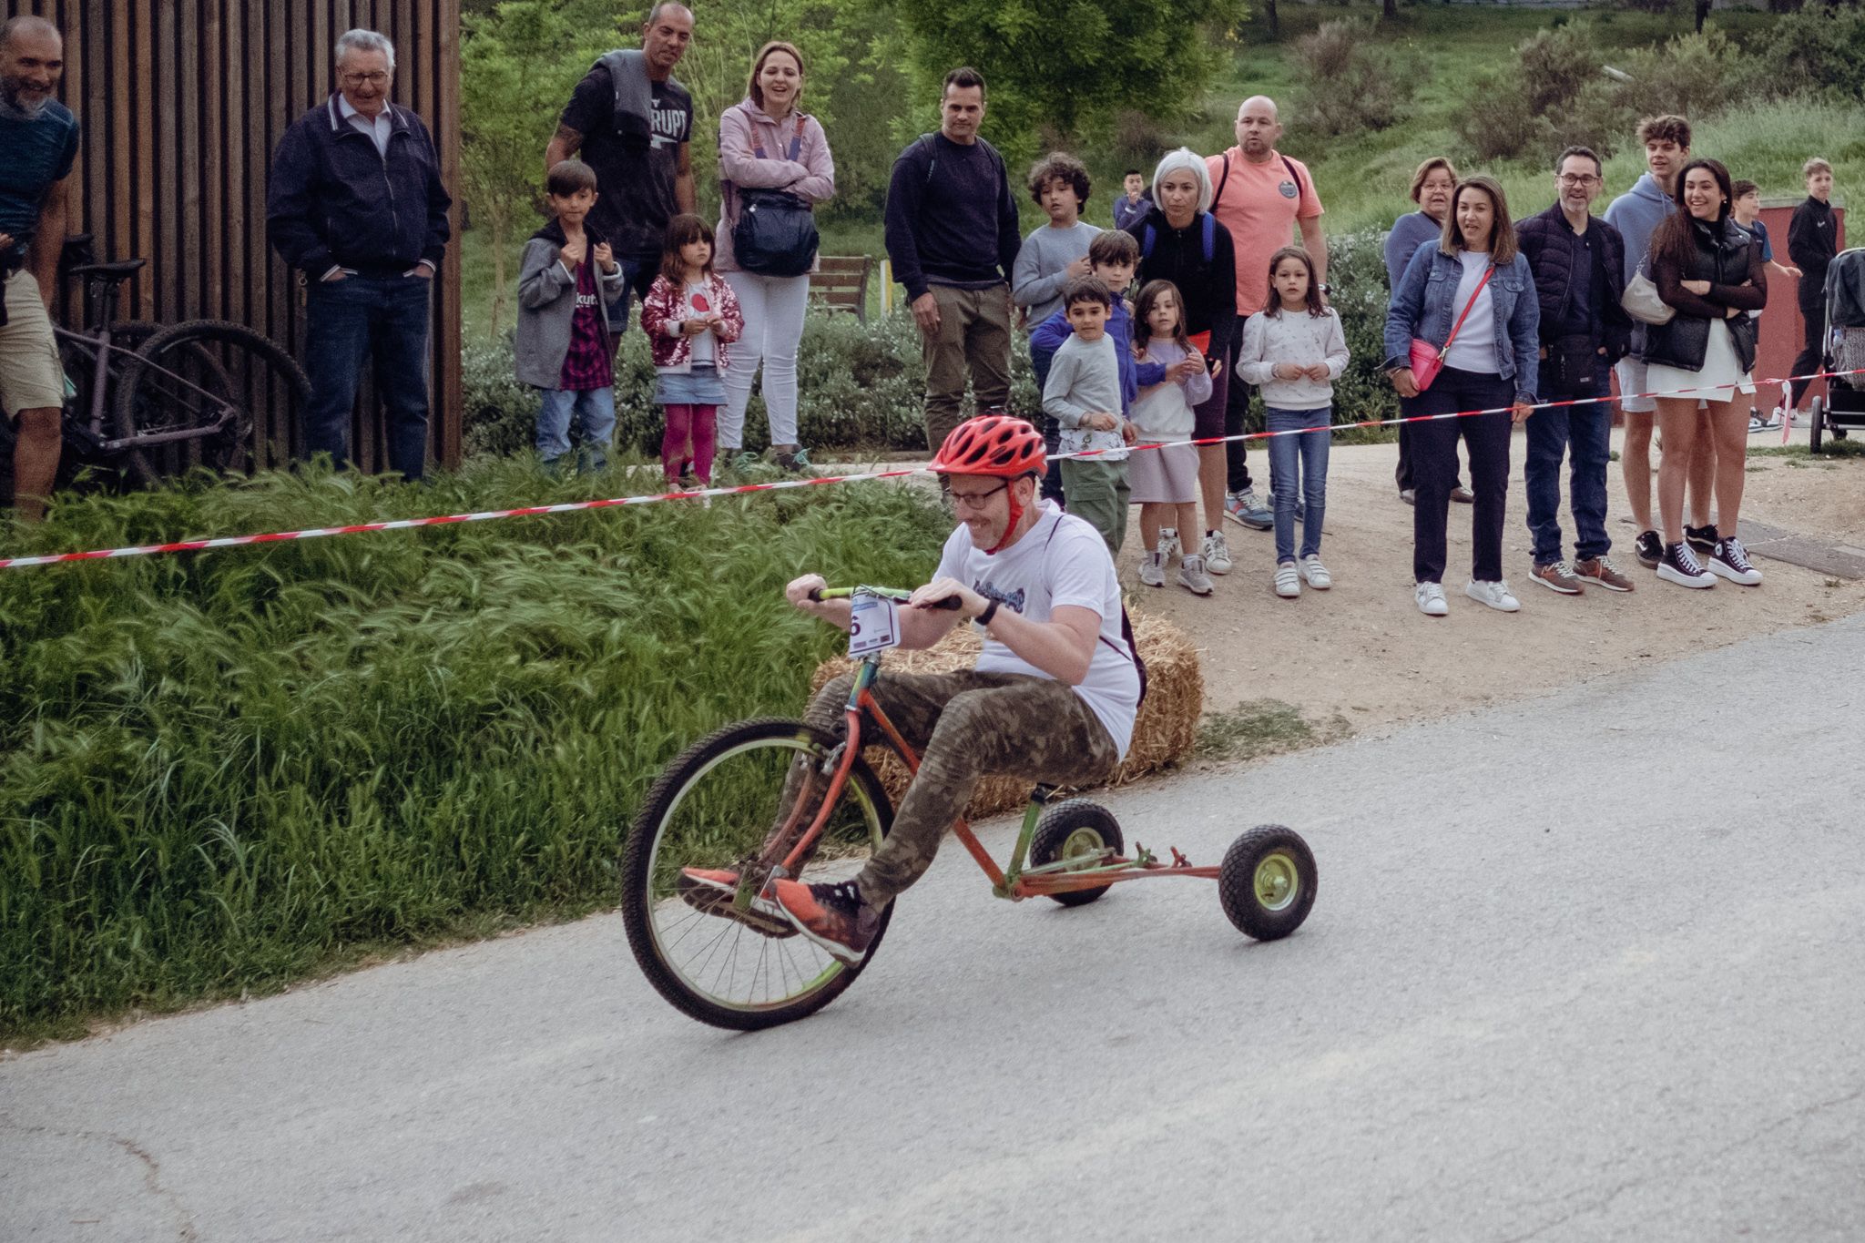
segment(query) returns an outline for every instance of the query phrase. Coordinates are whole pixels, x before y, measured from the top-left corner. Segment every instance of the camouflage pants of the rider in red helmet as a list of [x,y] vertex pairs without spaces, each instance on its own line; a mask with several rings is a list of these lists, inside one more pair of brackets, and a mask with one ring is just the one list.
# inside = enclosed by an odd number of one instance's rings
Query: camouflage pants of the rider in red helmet
[[[804,714],[839,729],[854,675],[817,691]],[[888,840],[856,883],[880,906],[919,880],[940,839],[964,814],[979,777],[1028,777],[1031,785],[1091,785],[1113,773],[1113,738],[1080,695],[1028,673],[891,673],[875,682],[875,701],[919,753],[919,773],[893,814]],[[863,742],[882,742],[863,725]]]

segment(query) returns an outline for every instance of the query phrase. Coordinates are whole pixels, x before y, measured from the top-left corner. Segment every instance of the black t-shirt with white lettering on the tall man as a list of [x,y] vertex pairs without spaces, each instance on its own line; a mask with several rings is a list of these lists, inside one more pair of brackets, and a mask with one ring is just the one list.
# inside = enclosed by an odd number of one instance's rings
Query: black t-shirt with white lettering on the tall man
[[615,86],[604,65],[584,75],[563,110],[563,123],[584,136],[578,158],[595,170],[599,198],[589,209],[589,227],[614,239],[615,253],[629,259],[660,255],[668,220],[681,211],[673,179],[694,129],[694,97],[686,88],[677,82],[649,82],[649,88],[655,116],[647,143],[615,132]]

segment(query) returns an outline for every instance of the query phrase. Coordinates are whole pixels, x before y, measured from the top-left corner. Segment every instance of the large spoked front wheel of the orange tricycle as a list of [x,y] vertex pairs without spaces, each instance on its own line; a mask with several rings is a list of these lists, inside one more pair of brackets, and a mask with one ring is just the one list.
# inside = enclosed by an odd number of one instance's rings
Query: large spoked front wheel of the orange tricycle
[[[802,721],[727,725],[649,790],[621,855],[621,917],[634,960],[683,1014],[739,1031],[776,1027],[815,1014],[862,973],[755,896],[821,813],[839,742]],[[856,757],[794,880],[850,880],[891,824],[880,779]],[[891,917],[888,904],[863,963]]]

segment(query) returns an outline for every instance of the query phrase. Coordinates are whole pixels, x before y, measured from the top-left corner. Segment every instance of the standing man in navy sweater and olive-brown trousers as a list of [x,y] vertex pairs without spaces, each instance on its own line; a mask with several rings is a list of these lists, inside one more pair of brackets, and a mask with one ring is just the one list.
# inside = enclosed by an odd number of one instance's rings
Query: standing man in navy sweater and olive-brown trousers
[[953,69],[938,132],[906,143],[888,184],[888,259],[927,362],[929,449],[959,427],[966,376],[977,414],[1002,414],[1011,401],[1011,270],[1022,235],[1003,157],[977,136],[983,119],[985,76]]

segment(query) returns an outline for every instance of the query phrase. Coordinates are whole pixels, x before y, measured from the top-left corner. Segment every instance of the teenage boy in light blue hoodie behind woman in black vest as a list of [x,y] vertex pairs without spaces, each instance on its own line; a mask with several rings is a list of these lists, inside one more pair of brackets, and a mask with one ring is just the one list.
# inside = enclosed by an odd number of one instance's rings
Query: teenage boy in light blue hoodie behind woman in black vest
[[[1645,117],[1637,123],[1637,140],[1645,147],[1645,175],[1606,209],[1606,224],[1619,229],[1626,244],[1624,280],[1630,285],[1637,274],[1637,265],[1651,250],[1651,235],[1665,216],[1677,211],[1671,194],[1677,190],[1677,175],[1690,162],[1690,121],[1680,116]],[[1664,557],[1664,539],[1658,537],[1651,516],[1651,425],[1658,403],[1637,393],[1651,391],[1645,382],[1645,332],[1643,324],[1632,330],[1632,352],[1619,360],[1619,408],[1626,416],[1626,434],[1619,451],[1621,473],[1626,481],[1626,503],[1632,507],[1632,520],[1639,535],[1636,552],[1639,565],[1647,570],[1658,568]],[[1692,548],[1716,544],[1710,526],[1710,490],[1716,471],[1716,451],[1708,438],[1699,438],[1701,451],[1690,462],[1690,498],[1695,527],[1686,527]]]

